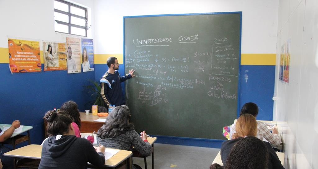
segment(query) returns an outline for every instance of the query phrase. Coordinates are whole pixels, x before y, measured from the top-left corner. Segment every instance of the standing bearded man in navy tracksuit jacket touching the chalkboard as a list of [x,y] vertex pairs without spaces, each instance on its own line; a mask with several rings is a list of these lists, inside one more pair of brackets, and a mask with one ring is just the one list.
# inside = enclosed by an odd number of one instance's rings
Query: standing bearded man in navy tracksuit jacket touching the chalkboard
[[119,64],[116,57],[109,57],[107,59],[108,71],[100,79],[101,96],[104,103],[109,105],[120,106],[125,104],[125,97],[122,93],[121,82],[135,77],[135,70],[130,70],[127,75],[120,77],[118,71]]

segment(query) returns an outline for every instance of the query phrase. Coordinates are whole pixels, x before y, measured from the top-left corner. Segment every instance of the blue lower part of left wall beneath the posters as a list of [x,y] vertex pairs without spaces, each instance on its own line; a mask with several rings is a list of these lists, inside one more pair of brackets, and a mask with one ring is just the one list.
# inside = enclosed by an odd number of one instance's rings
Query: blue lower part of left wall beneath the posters
[[[43,64],[42,64],[43,70]],[[11,124],[19,119],[21,125],[33,126],[31,144],[41,144],[44,137],[43,116],[46,111],[59,108],[73,100],[84,112],[91,105],[83,86],[95,79],[95,72],[67,74],[66,71],[11,74],[8,64],[0,64],[0,123]]]

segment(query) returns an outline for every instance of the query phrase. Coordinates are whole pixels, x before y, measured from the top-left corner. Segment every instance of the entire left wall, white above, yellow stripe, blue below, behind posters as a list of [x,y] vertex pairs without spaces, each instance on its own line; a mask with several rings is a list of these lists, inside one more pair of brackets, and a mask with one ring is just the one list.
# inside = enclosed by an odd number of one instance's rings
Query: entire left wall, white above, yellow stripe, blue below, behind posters
[[[89,7],[89,23],[94,24],[93,0],[76,0]],[[19,119],[21,125],[33,126],[31,143],[43,140],[43,116],[46,111],[60,107],[67,100],[78,103],[84,111],[91,99],[83,85],[86,79],[94,79],[95,72],[67,74],[67,71],[42,71],[38,73],[10,73],[8,58],[8,37],[31,39],[42,42],[66,42],[66,35],[54,31],[53,0],[1,0],[0,1],[0,123],[11,124]],[[93,37],[93,31],[88,36]]]

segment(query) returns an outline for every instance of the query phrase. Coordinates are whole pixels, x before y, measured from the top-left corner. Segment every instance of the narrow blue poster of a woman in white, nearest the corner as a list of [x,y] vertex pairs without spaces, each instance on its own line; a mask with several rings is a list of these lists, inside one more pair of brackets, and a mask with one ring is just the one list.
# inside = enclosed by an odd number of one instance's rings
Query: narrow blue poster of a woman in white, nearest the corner
[[93,39],[82,39],[82,66],[83,71],[94,70]]

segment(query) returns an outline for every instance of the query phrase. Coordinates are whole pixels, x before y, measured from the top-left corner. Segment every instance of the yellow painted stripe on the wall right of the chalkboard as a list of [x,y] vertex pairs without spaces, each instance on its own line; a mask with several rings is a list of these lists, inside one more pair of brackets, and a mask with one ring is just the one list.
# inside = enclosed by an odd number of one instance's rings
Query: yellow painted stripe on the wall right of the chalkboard
[[241,54],[241,65],[276,65],[275,53]]

